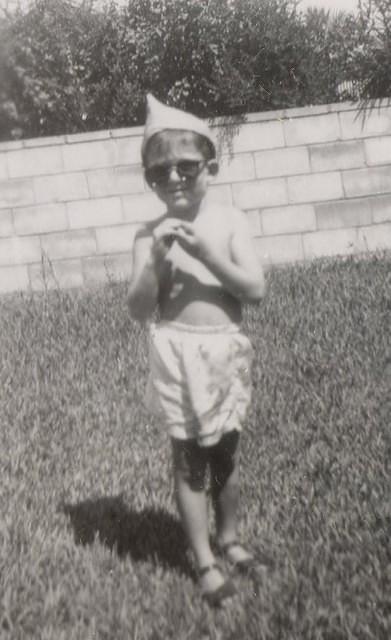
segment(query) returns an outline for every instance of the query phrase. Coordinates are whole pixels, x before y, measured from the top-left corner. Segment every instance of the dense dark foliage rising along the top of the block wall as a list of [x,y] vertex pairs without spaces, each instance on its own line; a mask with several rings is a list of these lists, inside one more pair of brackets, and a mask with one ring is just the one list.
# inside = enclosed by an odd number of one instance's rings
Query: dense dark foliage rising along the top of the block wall
[[391,10],[364,2],[35,0],[0,21],[0,139],[141,124],[150,90],[200,116],[388,95]]

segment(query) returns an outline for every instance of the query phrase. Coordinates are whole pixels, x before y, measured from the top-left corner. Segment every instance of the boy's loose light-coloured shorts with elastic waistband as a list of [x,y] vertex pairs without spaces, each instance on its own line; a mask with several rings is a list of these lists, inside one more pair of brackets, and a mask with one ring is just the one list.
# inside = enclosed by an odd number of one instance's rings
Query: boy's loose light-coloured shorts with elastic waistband
[[252,356],[236,324],[152,324],[147,407],[171,437],[212,446],[224,433],[242,430]]

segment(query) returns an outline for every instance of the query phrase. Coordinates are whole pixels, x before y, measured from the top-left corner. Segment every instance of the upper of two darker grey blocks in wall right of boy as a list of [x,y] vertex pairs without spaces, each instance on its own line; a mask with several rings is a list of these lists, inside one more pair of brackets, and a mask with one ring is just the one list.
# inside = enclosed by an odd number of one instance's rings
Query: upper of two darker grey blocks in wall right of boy
[[361,140],[312,145],[309,153],[313,171],[353,169],[365,165],[364,144]]

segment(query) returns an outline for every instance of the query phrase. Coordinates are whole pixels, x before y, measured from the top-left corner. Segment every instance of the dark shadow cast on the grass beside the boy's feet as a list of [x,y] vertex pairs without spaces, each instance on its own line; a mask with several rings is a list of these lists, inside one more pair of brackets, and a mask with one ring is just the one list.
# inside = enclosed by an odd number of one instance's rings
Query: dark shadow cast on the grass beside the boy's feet
[[60,510],[70,518],[76,544],[88,545],[98,538],[120,557],[151,560],[193,575],[180,522],[164,509],[136,511],[119,495],[63,503]]

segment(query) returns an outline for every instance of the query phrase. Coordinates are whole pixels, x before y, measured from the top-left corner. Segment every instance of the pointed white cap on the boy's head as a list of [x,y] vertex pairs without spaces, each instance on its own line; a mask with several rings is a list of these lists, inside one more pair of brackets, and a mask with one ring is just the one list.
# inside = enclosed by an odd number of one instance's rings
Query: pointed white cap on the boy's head
[[207,138],[216,149],[212,132],[208,125],[201,118],[197,118],[192,113],[187,113],[181,109],[168,107],[159,102],[151,93],[147,94],[147,119],[144,127],[144,138],[141,146],[141,155],[144,158],[145,150],[151,138],[156,133],[167,131],[167,129],[181,129],[184,131],[194,131]]

